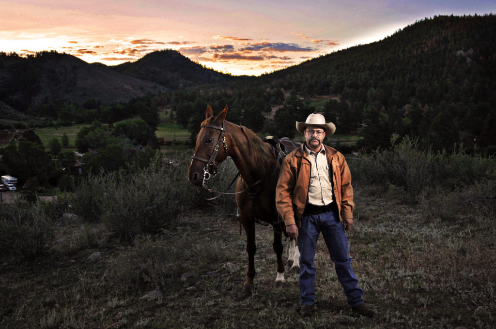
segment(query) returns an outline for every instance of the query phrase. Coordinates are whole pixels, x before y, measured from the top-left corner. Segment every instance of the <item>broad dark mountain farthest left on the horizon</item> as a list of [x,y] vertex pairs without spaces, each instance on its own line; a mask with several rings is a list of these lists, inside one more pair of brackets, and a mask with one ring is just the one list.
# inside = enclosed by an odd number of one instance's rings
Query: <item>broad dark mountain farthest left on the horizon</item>
[[42,52],[23,58],[0,54],[0,101],[16,110],[50,102],[81,104],[89,99],[110,105],[165,90],[72,55]]

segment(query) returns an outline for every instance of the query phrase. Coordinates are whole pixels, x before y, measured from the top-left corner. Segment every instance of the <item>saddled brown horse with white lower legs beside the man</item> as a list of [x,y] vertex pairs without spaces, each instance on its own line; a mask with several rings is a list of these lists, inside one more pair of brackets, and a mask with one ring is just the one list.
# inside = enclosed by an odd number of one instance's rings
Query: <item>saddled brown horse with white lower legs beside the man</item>
[[[276,286],[282,286],[284,264],[282,261],[282,234],[284,223],[278,220],[275,207],[275,187],[279,177],[280,162],[277,152],[269,143],[264,143],[251,130],[226,121],[227,106],[213,116],[210,106],[205,112],[206,119],[196,138],[194,155],[189,164],[188,180],[196,186],[205,186],[207,180],[218,171],[220,164],[231,157],[241,177],[236,184],[236,203],[240,220],[247,236],[248,272],[244,292],[253,289],[255,276],[255,222],[261,220],[273,227],[272,246],[277,255]],[[296,241],[290,241],[288,263],[292,269],[299,269],[299,252]]]

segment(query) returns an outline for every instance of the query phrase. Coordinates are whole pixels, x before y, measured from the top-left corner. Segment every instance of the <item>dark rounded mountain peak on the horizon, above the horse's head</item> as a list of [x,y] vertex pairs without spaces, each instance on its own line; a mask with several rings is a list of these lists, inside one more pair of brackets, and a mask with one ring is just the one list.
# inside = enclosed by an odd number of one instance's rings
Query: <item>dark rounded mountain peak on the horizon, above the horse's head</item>
[[233,79],[231,75],[205,68],[174,50],[153,52],[134,62],[125,62],[111,68],[134,78],[151,81],[171,89],[220,83]]

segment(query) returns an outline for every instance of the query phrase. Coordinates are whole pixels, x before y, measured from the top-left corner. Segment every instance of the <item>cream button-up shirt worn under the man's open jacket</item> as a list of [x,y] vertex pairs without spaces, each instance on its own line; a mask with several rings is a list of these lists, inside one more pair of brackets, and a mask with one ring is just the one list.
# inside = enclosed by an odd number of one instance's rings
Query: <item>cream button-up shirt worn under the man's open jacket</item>
[[305,153],[311,163],[309,203],[315,206],[325,206],[332,202],[332,180],[325,148],[315,153],[305,145]]

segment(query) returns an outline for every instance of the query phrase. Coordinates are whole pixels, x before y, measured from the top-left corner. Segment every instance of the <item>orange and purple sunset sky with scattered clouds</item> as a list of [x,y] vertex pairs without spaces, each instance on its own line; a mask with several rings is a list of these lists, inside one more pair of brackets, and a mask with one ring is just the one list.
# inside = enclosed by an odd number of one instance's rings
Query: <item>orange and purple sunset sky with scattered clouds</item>
[[496,0],[0,0],[0,51],[118,65],[173,49],[233,75],[270,73]]

